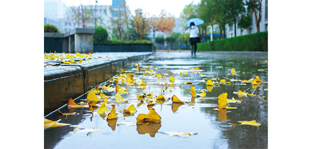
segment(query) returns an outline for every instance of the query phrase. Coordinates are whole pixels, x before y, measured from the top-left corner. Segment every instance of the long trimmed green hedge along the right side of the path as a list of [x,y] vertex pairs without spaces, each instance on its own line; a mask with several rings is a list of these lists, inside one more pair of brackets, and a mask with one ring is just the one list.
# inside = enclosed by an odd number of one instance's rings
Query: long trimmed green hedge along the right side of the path
[[265,51],[268,52],[268,31],[198,43],[197,51]]

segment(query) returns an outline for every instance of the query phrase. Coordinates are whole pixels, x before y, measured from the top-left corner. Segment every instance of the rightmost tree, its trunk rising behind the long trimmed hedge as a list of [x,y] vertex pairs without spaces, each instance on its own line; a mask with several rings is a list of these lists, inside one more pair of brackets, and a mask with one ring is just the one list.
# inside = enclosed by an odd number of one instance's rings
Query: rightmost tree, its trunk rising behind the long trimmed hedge
[[[255,21],[257,26],[257,32],[260,32],[260,19],[261,19],[261,9],[262,9],[262,0],[248,0],[247,6],[249,10],[252,10],[255,15]],[[257,15],[258,12],[258,15]]]

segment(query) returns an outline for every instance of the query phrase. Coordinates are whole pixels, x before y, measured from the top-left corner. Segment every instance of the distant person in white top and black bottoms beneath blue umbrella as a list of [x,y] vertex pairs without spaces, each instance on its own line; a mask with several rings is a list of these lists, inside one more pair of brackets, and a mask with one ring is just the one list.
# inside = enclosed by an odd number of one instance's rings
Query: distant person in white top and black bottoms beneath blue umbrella
[[192,45],[192,55],[193,55],[193,49],[194,49],[194,55],[196,55],[196,49],[197,49],[197,42],[200,42],[200,38],[198,36],[199,29],[197,26],[195,26],[194,22],[191,22],[190,27],[185,31],[186,33],[190,33],[190,42]]

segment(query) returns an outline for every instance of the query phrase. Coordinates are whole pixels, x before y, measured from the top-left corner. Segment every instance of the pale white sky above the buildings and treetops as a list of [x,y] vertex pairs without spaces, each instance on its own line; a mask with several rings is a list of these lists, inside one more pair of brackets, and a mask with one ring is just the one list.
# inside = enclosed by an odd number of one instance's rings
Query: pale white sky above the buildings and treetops
[[[63,0],[66,6],[95,5],[95,0]],[[180,17],[180,13],[185,5],[192,2],[198,4],[200,0],[126,0],[131,13],[134,15],[137,8],[141,8],[143,13],[148,13],[150,16],[158,16],[161,10],[167,11],[167,14],[173,14],[175,17]],[[98,0],[98,5],[112,5],[112,0]]]

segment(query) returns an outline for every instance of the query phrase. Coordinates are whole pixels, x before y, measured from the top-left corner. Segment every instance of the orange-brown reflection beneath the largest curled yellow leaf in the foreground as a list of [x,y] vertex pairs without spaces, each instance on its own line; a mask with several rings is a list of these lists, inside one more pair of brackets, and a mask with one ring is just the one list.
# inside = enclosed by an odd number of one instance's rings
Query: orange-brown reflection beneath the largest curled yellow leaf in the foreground
[[137,131],[143,135],[148,133],[149,136],[154,137],[158,130],[162,127],[160,122],[149,122],[149,124],[137,124]]

